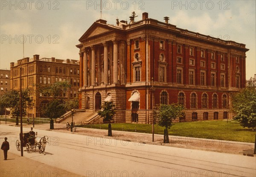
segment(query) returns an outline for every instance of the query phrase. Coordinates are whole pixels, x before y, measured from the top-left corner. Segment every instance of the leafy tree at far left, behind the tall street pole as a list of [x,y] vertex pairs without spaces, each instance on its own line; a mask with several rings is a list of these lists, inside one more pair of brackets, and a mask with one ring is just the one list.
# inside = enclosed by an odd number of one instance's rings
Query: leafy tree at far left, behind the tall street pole
[[[29,89],[22,90],[22,115],[26,115],[26,108],[32,102],[29,96]],[[4,93],[0,98],[0,104],[4,107],[10,108],[12,115],[16,117],[16,125],[19,125],[20,116],[20,91],[19,90],[9,90]]]

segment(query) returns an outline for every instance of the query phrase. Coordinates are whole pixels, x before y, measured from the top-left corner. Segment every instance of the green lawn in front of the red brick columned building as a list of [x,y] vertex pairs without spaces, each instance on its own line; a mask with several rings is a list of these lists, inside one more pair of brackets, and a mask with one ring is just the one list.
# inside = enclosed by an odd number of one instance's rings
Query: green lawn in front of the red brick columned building
[[[84,125],[86,128],[108,129],[108,124]],[[154,126],[155,134],[163,135],[163,127]],[[152,133],[151,124],[112,124],[112,130],[127,132]],[[255,134],[252,129],[243,128],[236,121],[198,121],[175,123],[169,130],[169,135],[208,138],[229,141],[254,143]]]

